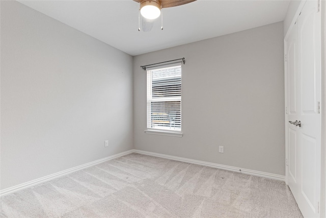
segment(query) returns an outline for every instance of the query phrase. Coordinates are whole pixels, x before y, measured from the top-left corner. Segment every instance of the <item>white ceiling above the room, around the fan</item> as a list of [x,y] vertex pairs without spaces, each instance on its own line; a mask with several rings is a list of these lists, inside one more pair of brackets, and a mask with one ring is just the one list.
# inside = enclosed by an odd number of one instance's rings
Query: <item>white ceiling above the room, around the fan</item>
[[289,5],[197,0],[162,9],[164,30],[158,18],[150,32],[139,32],[139,4],[132,0],[19,2],[132,56],[282,21]]

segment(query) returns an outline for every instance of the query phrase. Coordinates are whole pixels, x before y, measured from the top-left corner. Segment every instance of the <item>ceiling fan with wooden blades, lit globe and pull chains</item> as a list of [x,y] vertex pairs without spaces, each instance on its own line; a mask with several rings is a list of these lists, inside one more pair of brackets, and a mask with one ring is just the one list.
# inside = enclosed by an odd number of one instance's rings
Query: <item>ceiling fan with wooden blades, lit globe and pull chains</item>
[[[143,16],[142,27],[144,32],[148,32],[153,27],[153,20],[161,15],[162,8],[171,8],[195,2],[196,0],[133,0],[140,3],[140,14]],[[139,15],[139,27],[140,31],[140,15]],[[163,16],[161,16],[161,30],[163,30]]]

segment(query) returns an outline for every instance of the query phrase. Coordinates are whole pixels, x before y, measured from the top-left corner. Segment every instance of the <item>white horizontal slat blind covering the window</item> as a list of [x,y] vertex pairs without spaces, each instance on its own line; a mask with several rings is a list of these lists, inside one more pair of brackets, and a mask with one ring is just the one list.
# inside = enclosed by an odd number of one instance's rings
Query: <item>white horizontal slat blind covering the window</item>
[[181,66],[147,71],[147,128],[181,131]]

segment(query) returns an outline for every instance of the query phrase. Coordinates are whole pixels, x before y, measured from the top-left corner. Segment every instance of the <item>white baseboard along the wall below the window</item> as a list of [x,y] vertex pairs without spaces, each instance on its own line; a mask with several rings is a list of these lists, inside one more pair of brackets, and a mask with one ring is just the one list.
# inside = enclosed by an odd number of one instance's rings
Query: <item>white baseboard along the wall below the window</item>
[[238,167],[234,167],[234,166],[227,166],[227,165],[222,165],[222,164],[217,164],[217,163],[210,163],[210,162],[205,162],[205,161],[200,161],[200,160],[193,160],[193,159],[188,159],[188,158],[170,156],[170,155],[165,155],[165,154],[158,154],[158,153],[153,153],[153,152],[146,152],[146,151],[135,150],[135,149],[133,149],[133,152],[138,153],[138,154],[144,154],[144,155],[161,157],[161,158],[166,158],[166,159],[171,159],[171,160],[182,161],[182,162],[186,162],[186,163],[194,163],[194,164],[199,164],[199,165],[204,165],[204,166],[210,166],[210,167],[214,167],[214,168],[225,169],[226,171],[233,171],[233,172],[238,172],[238,173],[248,174],[248,175],[252,175],[252,176],[264,177],[264,178],[268,178],[268,179],[274,179],[274,180],[279,180],[279,181],[285,182],[285,176],[277,175],[277,174],[270,174],[270,173],[265,173],[265,172],[260,172],[260,171],[253,171],[251,169],[243,169],[243,168],[238,168]]

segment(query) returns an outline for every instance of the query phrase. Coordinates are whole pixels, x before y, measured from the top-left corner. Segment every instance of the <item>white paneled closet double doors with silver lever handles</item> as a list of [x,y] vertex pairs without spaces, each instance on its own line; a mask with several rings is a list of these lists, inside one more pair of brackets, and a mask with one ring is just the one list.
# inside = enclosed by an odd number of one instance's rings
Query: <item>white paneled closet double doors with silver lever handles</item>
[[286,39],[287,180],[304,217],[319,217],[321,27],[318,8],[318,1],[307,1]]

